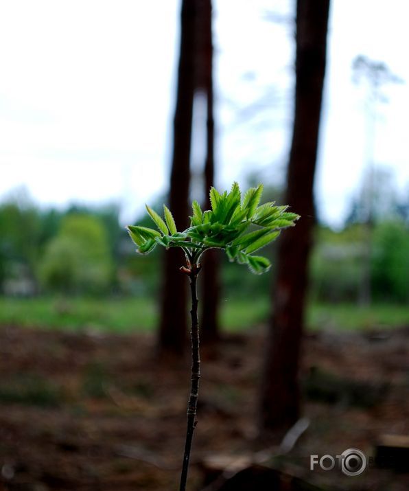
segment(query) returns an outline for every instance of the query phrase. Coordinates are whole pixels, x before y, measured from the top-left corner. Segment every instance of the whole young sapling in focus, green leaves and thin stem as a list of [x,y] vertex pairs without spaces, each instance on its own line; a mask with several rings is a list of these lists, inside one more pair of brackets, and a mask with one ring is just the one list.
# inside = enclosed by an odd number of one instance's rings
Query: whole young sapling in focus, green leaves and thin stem
[[[180,476],[180,491],[185,491],[187,470],[194,429],[200,379],[198,298],[196,282],[200,273],[200,259],[208,249],[222,249],[231,262],[247,264],[250,271],[261,274],[270,269],[270,261],[255,251],[277,239],[282,229],[293,227],[299,215],[287,211],[288,206],[275,206],[274,202],[259,205],[263,185],[250,187],[242,194],[237,183],[231,192],[220,194],[210,190],[211,209],[202,212],[197,201],[192,203],[191,226],[177,231],[170,210],[163,205],[164,218],[146,206],[148,214],[158,230],[129,225],[130,238],[137,245],[137,252],[150,253],[157,244],[169,249],[180,247],[185,253],[186,265],[180,271],[189,278],[191,290],[191,390],[187,404],[187,433],[185,455]],[[249,230],[250,229],[250,230]],[[205,306],[206,308],[206,306]]]

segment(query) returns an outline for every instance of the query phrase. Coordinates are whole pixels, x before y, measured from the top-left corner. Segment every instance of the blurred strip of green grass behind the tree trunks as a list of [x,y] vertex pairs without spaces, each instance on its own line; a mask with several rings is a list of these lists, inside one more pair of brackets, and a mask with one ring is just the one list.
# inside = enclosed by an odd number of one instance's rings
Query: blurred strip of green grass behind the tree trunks
[[[270,299],[227,297],[220,302],[220,323],[224,330],[240,331],[265,323]],[[152,298],[56,298],[16,299],[0,297],[0,325],[102,332],[151,332],[156,328],[159,309]],[[312,330],[364,330],[409,324],[409,306],[375,304],[312,304],[307,325]]]

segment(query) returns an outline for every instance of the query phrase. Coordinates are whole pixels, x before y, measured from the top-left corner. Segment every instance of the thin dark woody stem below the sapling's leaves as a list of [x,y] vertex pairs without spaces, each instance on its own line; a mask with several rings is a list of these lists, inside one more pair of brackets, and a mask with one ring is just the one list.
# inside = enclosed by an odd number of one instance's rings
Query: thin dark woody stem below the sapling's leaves
[[180,476],[180,491],[185,491],[187,470],[189,468],[189,457],[191,442],[196,427],[196,407],[198,404],[199,379],[200,379],[200,351],[199,351],[199,323],[198,323],[198,297],[196,293],[196,281],[200,271],[198,264],[192,264],[189,271],[190,291],[191,291],[191,386],[189,402],[187,404],[187,432],[185,455],[183,456],[182,474]]

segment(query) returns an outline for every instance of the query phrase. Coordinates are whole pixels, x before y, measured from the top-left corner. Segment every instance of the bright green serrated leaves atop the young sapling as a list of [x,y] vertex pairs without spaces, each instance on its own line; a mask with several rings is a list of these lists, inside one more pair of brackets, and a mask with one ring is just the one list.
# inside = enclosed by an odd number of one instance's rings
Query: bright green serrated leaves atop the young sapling
[[[281,229],[294,226],[299,215],[288,213],[286,206],[274,206],[274,202],[259,205],[263,185],[250,187],[242,199],[237,183],[231,191],[222,194],[214,187],[210,190],[211,210],[202,212],[197,201],[192,203],[191,226],[183,232],[176,230],[170,210],[164,206],[165,221],[146,206],[148,214],[159,231],[148,227],[132,226],[128,233],[137,245],[137,252],[150,253],[156,244],[166,249],[180,247],[191,264],[200,260],[207,249],[217,248],[226,252],[231,262],[247,264],[256,274],[270,269],[270,261],[252,255],[275,240]],[[248,231],[249,227],[256,227]],[[247,232],[246,232],[247,231]]]

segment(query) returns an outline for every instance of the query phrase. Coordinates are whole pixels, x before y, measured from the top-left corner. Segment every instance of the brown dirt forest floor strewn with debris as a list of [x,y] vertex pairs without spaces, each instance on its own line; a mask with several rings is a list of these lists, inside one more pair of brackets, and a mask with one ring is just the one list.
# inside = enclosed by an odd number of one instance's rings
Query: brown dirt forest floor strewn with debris
[[[261,450],[263,332],[202,353],[189,490],[204,488],[209,468],[234,458],[239,470]],[[140,334],[0,328],[0,489],[177,490],[190,363],[157,363],[153,345]],[[347,477],[309,470],[309,456],[370,456],[380,435],[409,434],[409,328],[309,335],[302,376],[309,426],[285,455],[266,449],[264,464],[325,490],[408,490],[409,463]]]

